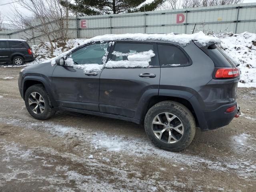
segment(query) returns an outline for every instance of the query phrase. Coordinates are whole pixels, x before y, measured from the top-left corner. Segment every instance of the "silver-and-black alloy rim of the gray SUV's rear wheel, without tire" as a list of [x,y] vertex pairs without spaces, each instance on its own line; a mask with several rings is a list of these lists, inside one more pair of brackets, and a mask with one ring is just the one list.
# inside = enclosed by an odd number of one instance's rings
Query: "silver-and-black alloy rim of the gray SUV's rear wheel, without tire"
[[156,138],[169,144],[178,142],[184,134],[181,120],[168,112],[160,113],[153,118],[152,130]]

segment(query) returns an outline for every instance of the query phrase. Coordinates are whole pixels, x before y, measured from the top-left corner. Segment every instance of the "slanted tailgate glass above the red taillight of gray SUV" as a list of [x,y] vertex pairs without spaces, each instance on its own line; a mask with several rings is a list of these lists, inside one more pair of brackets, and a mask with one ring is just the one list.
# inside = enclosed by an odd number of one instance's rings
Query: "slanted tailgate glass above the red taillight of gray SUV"
[[228,58],[228,56],[226,56],[224,52],[222,52],[222,50],[220,50],[220,48],[218,48],[216,45],[213,44],[211,46],[208,46],[206,52],[208,56],[212,59],[216,67],[234,66],[230,58]]

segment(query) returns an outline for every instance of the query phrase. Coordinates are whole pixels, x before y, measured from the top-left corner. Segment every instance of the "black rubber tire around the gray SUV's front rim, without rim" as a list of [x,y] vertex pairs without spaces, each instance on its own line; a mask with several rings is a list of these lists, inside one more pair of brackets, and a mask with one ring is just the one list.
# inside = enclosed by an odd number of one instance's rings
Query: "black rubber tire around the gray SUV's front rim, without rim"
[[[40,94],[42,96],[42,98],[44,99],[44,111],[41,112],[40,114],[36,114],[35,112],[33,112],[33,110],[32,110],[33,106],[30,106],[29,102],[28,102],[29,97],[31,98],[30,94],[33,92]],[[36,85],[30,86],[26,90],[24,100],[25,100],[25,105],[26,105],[28,112],[30,113],[31,116],[33,116],[36,119],[46,120],[46,119],[50,118],[51,116],[53,116],[56,112],[51,107],[51,102],[50,102],[49,96],[42,84],[36,84]],[[40,112],[40,110],[36,110],[36,111]]]

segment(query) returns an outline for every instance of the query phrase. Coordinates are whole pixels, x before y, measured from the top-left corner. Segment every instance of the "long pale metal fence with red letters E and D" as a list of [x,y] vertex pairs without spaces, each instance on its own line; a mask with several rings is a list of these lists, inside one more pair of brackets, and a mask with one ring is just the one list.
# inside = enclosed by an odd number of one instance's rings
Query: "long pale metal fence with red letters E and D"
[[[68,36],[70,38],[91,38],[97,35],[123,33],[190,34],[195,24],[197,24],[196,31],[222,30],[234,33],[244,31],[256,33],[256,3],[70,17]],[[30,39],[31,44],[40,42],[32,38],[33,36],[48,41],[40,32],[31,29],[0,32],[0,38],[27,38]]]

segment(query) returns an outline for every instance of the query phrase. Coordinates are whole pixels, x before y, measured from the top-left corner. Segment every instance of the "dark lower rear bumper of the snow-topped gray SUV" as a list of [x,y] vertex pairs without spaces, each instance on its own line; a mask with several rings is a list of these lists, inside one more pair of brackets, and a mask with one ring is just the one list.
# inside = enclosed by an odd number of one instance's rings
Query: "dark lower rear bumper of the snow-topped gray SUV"
[[[227,113],[226,109],[234,105],[236,105],[234,112]],[[212,130],[228,125],[236,115],[237,109],[237,103],[233,102],[212,111],[203,111],[207,127],[201,127],[201,130]]]

